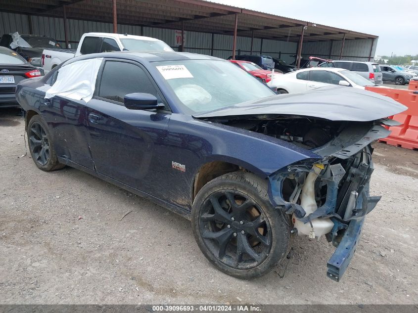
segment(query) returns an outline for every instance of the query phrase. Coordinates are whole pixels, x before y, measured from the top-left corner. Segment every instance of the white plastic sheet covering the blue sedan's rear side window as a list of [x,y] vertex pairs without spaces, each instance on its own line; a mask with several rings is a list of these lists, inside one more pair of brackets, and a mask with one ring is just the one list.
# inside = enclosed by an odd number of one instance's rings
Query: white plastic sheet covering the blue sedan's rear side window
[[74,100],[89,102],[94,93],[97,73],[103,58],[82,60],[62,66],[52,87],[45,97],[64,96]]

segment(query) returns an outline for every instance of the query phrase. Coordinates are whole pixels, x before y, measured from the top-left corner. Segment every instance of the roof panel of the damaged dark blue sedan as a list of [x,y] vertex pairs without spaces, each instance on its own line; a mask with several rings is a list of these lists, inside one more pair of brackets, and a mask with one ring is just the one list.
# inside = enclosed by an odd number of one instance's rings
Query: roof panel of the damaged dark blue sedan
[[70,64],[79,60],[86,60],[91,58],[120,58],[126,60],[134,60],[139,62],[162,62],[162,61],[183,61],[183,60],[218,60],[225,61],[214,56],[197,54],[190,52],[176,52],[176,51],[156,51],[156,52],[139,52],[139,51],[118,51],[118,52],[104,52],[92,53],[77,56],[69,59],[65,64]]

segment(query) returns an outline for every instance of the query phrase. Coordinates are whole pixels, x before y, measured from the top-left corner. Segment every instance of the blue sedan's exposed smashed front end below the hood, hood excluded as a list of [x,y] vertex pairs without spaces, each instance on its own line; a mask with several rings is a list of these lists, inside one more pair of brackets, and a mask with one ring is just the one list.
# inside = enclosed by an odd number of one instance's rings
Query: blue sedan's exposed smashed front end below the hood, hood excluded
[[354,255],[365,216],[380,200],[369,195],[371,143],[390,133],[382,125],[396,124],[388,119],[350,123],[311,150],[322,159],[289,165],[269,177],[271,200],[291,215],[292,232],[310,239],[325,235],[336,247],[326,272],[335,281]]

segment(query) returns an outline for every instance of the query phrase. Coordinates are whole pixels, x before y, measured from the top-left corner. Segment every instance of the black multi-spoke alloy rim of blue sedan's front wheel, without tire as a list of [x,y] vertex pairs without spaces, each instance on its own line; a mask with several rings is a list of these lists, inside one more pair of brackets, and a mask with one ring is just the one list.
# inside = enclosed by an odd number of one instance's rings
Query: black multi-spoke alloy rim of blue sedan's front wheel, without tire
[[272,245],[271,226],[263,210],[237,190],[220,190],[207,198],[199,229],[208,249],[236,269],[260,265]]

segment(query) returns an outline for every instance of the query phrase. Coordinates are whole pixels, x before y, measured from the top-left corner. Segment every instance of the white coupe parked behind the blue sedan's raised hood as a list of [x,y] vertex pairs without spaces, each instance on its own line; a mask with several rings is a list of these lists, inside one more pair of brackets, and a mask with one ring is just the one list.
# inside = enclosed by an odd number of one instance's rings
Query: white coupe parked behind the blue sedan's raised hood
[[294,93],[329,85],[340,85],[365,89],[376,86],[370,80],[343,68],[313,67],[279,75],[267,83],[277,87],[278,93]]

